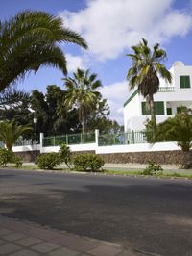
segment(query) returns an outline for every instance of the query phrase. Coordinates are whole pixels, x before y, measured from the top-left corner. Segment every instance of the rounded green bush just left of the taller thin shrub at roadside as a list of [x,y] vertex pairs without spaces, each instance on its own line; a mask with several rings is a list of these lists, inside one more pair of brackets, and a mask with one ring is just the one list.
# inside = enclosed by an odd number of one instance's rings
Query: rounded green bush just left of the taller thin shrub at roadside
[[40,169],[53,169],[60,165],[60,156],[58,153],[40,154],[37,158],[37,165]]

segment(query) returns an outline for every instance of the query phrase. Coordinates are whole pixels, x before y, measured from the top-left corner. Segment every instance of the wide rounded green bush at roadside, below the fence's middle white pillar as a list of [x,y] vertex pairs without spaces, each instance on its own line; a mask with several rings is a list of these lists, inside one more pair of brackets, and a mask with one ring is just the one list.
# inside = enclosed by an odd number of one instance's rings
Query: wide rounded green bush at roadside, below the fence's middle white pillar
[[94,154],[81,154],[73,158],[74,169],[78,171],[102,171],[101,167],[104,166],[104,160]]

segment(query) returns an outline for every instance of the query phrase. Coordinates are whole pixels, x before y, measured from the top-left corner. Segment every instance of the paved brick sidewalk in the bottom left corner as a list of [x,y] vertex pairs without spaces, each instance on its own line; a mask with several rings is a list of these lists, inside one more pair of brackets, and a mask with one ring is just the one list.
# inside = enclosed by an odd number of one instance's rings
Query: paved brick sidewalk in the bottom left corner
[[0,215],[0,255],[133,256],[121,245],[45,229]]

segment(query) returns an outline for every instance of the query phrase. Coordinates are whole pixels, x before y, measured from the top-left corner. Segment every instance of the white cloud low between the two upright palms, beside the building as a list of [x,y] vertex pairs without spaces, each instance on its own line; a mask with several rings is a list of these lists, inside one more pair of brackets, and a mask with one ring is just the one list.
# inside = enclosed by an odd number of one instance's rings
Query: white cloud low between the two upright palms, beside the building
[[103,87],[100,92],[108,99],[110,118],[123,124],[123,104],[129,97],[128,82],[117,82]]

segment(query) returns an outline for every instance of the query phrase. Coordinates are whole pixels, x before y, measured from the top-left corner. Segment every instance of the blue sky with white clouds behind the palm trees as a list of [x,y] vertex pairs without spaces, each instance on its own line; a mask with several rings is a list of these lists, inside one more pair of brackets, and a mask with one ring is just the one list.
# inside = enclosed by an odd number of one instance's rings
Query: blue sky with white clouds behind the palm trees
[[[60,16],[65,27],[78,32],[88,50],[62,44],[68,75],[77,67],[90,69],[102,81],[101,92],[108,99],[110,118],[123,123],[123,104],[130,95],[126,74],[131,46],[141,38],[156,42],[167,52],[165,65],[176,61],[192,64],[192,0],[0,0],[4,21],[24,10],[41,10]],[[46,91],[48,85],[64,89],[63,74],[41,67],[17,82],[21,90]]]

